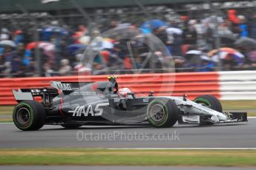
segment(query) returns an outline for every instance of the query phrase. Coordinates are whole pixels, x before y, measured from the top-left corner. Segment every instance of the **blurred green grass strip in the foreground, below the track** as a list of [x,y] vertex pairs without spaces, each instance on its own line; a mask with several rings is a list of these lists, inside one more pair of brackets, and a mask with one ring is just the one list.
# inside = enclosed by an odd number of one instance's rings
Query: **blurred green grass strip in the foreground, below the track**
[[250,150],[0,150],[0,165],[256,166],[255,159]]

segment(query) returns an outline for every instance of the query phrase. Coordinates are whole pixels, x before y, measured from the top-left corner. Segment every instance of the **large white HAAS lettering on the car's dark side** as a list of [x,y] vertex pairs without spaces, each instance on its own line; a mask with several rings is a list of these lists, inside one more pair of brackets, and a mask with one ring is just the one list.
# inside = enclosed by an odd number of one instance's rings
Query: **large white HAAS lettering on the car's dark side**
[[103,109],[100,108],[101,106],[108,106],[109,103],[98,103],[95,106],[95,109],[93,110],[93,106],[90,104],[87,107],[86,106],[77,106],[75,110],[68,111],[70,113],[73,113],[73,116],[82,116],[84,115],[87,117],[88,115],[91,116],[101,116],[103,113]]

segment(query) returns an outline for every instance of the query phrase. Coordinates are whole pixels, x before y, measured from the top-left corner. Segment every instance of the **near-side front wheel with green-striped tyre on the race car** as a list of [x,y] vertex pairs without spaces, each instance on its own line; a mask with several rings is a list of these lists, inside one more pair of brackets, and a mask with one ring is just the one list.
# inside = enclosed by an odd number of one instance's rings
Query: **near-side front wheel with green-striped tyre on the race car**
[[148,104],[148,122],[154,127],[171,127],[177,122],[179,110],[174,101],[154,99]]

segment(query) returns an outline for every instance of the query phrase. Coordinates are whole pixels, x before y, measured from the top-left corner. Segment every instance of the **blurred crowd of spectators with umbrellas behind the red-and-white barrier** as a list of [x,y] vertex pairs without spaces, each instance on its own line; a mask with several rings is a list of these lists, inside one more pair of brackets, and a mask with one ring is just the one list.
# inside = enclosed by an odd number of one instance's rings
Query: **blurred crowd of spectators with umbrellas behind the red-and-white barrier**
[[[153,50],[152,35],[161,41]],[[42,76],[169,72],[172,65],[176,72],[255,69],[256,15],[227,10],[226,16],[112,19],[76,29],[58,21],[33,31],[1,27],[1,77],[39,76],[39,70]]]

